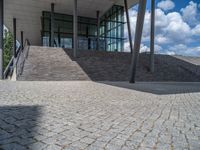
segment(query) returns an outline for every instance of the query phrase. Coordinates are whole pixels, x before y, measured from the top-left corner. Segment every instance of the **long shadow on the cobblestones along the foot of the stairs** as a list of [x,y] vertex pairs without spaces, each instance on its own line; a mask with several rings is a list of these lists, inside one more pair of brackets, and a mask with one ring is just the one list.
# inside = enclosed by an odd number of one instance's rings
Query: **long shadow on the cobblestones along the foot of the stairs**
[[200,92],[200,82],[99,82],[102,84],[158,95]]

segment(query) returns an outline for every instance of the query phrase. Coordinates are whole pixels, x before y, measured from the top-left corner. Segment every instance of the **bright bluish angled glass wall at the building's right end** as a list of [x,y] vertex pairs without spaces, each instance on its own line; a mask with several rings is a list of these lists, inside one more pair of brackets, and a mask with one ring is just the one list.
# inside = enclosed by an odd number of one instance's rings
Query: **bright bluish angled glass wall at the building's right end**
[[114,5],[102,18],[100,35],[107,51],[124,49],[124,8]]

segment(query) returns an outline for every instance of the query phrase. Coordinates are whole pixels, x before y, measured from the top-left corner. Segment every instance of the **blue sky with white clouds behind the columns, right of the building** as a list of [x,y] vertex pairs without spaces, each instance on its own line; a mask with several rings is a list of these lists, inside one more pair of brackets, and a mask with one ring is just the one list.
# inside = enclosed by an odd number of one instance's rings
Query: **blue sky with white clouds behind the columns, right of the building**
[[[134,35],[137,6],[130,9],[129,13]],[[156,0],[155,17],[156,53],[200,57],[200,0]],[[150,0],[147,0],[141,52],[149,51],[149,37]],[[129,50],[128,41],[125,50]]]

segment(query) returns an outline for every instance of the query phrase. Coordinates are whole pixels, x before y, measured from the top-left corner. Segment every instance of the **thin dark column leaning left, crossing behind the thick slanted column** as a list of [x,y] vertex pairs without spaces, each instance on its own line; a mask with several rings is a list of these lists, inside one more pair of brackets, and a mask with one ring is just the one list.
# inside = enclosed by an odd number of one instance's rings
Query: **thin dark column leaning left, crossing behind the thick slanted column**
[[126,12],[127,27],[128,27],[129,44],[130,44],[131,53],[133,53],[131,25],[130,25],[129,13],[128,13],[128,3],[127,3],[127,0],[124,0],[124,6],[125,6],[125,12]]

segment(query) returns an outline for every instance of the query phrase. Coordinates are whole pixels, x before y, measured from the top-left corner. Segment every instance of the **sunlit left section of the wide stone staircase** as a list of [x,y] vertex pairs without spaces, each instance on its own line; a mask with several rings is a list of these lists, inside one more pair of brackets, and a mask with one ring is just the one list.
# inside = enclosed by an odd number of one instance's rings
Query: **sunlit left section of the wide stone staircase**
[[24,81],[89,80],[62,48],[31,46],[22,76]]

